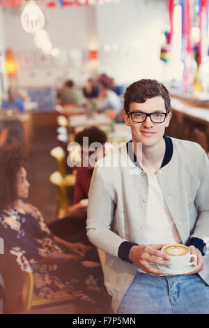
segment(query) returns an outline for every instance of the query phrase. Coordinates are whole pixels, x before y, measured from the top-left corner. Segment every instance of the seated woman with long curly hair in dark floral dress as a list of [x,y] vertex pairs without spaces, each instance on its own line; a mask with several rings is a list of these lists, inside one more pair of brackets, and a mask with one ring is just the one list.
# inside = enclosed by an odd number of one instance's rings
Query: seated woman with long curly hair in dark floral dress
[[56,237],[36,207],[25,202],[29,182],[20,149],[0,149],[0,231],[22,271],[33,272],[38,297],[72,296],[77,313],[108,313],[100,264],[84,257],[91,246]]

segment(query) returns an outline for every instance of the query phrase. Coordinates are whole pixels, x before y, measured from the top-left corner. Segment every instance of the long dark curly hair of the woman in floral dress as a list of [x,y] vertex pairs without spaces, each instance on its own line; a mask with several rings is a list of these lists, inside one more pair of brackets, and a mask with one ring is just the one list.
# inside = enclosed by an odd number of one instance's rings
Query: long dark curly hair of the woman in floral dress
[[17,200],[17,173],[24,166],[21,146],[15,140],[0,147],[0,214]]

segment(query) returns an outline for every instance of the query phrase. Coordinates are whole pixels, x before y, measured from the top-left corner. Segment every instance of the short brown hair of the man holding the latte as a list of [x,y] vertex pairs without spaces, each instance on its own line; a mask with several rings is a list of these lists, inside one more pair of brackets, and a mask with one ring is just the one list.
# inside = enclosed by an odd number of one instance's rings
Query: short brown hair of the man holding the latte
[[166,87],[157,80],[139,80],[130,84],[124,94],[124,110],[130,112],[131,103],[144,103],[149,98],[161,96],[167,113],[171,112],[171,98]]

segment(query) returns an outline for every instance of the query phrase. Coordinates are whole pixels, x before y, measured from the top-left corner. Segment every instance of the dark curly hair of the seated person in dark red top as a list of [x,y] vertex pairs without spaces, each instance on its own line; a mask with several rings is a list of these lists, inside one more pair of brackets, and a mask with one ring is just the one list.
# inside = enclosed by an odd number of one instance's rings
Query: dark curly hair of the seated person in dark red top
[[84,130],[79,131],[75,135],[75,142],[78,142],[81,146],[83,145],[83,137],[88,137],[88,144],[93,142],[100,142],[100,144],[105,144],[107,141],[107,135],[104,131],[100,130],[96,126],[91,126],[89,128],[84,128]]

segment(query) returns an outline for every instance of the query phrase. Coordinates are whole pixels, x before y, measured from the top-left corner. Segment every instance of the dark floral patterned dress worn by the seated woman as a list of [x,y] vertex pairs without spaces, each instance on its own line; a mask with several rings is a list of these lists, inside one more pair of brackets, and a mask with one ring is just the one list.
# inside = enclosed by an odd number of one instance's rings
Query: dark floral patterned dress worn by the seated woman
[[99,262],[38,263],[47,253],[65,250],[54,241],[40,211],[31,208],[36,218],[17,208],[3,211],[0,236],[22,271],[33,272],[36,295],[50,299],[70,295],[78,313],[108,313],[109,300]]

